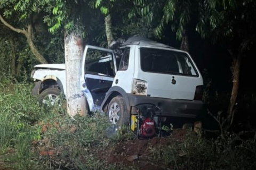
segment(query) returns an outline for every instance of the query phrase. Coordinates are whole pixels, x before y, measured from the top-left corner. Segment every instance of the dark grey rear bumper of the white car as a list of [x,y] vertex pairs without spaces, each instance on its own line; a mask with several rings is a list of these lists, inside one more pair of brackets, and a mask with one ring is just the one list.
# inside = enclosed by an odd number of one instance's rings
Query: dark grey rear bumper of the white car
[[162,116],[196,118],[203,111],[204,103],[198,100],[167,99],[127,94],[130,106],[154,104],[161,108]]

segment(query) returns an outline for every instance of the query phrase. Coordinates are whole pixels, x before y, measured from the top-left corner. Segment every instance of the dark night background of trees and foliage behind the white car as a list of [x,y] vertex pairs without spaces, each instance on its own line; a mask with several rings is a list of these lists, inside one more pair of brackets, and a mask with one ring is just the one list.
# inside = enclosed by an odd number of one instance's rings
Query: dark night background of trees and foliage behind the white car
[[255,7],[253,0],[3,0],[1,81],[29,80],[35,64],[65,62],[65,32],[78,31],[84,44],[102,47],[111,37],[141,35],[189,50],[211,111],[227,113],[229,125],[234,118],[250,121],[244,113],[254,112],[256,100]]

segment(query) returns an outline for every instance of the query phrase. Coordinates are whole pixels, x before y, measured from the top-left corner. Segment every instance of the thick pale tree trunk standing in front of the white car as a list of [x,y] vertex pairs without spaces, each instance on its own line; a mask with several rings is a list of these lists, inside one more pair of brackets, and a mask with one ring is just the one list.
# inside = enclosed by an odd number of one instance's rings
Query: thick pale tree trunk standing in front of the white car
[[66,63],[66,83],[67,83],[67,113],[70,116],[76,114],[85,115],[85,96],[81,91],[80,78],[83,77],[83,40],[81,36],[72,32],[65,35],[65,63]]

